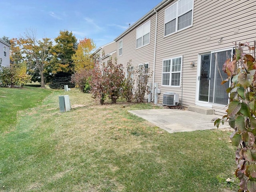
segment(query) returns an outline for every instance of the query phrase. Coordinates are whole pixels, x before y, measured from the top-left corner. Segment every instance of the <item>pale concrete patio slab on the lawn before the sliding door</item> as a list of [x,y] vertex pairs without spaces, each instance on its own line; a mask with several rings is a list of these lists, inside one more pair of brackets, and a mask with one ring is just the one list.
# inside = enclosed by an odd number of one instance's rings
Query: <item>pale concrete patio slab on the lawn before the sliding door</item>
[[[216,129],[212,119],[222,118],[219,115],[205,115],[179,109],[129,110],[128,112],[148,120],[169,133]],[[230,128],[230,126],[226,122],[224,125],[220,124],[219,128]]]

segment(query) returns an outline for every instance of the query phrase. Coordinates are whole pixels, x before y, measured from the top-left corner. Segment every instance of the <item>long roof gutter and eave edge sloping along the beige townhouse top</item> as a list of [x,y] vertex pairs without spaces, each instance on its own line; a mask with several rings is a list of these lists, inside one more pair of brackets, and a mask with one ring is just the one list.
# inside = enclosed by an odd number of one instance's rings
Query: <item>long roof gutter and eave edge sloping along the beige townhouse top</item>
[[118,41],[120,40],[123,36],[125,36],[126,34],[128,34],[131,30],[133,30],[134,28],[136,28],[139,24],[141,24],[142,22],[144,22],[147,18],[149,18],[150,16],[152,16],[153,14],[155,14],[155,10],[159,10],[160,8],[162,8],[162,6],[164,6],[165,4],[169,3],[171,0],[163,0],[162,2],[160,2],[157,6],[155,6],[152,10],[150,10],[146,15],[144,15],[142,18],[140,18],[138,21],[136,21],[134,24],[132,24],[132,26],[130,26],[128,29],[126,29],[122,34],[120,34],[117,38],[114,39],[114,41]]

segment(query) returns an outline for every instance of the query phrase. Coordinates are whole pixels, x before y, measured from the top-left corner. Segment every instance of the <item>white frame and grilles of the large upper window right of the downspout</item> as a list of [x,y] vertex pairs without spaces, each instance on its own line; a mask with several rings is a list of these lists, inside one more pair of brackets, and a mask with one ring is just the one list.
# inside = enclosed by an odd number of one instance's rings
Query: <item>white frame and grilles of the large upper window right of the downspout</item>
[[[176,32],[179,32],[179,31],[182,31],[182,30],[185,30],[187,28],[190,28],[193,26],[193,15],[194,15],[194,0],[187,0],[187,1],[191,1],[190,3],[192,4],[192,8],[188,9],[188,10],[184,10],[182,11],[180,14],[178,13],[179,12],[179,8],[182,7],[181,3],[182,1],[184,0],[178,0],[176,1],[174,4],[170,5],[168,8],[165,9],[164,11],[164,37],[167,37],[167,36],[170,36]],[[167,20],[166,19],[166,12],[168,12],[172,7],[176,6],[175,8],[175,12],[173,14],[173,17],[175,16],[175,18],[172,18],[172,19],[169,19]],[[178,30],[178,19],[183,16],[184,14],[188,13],[192,11],[192,19],[191,19],[191,25],[189,26],[186,26],[184,28],[181,28],[180,30]],[[175,22],[175,31],[174,32],[171,32],[170,34],[165,34],[165,30],[166,30],[166,24],[172,20],[176,19],[176,22]]]

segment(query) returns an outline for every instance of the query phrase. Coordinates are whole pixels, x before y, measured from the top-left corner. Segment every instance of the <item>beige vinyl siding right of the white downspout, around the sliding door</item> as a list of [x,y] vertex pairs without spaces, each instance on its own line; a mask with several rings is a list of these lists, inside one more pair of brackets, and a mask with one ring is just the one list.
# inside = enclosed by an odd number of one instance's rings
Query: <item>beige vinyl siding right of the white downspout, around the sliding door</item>
[[[155,82],[161,89],[158,102],[162,103],[165,92],[179,94],[181,101],[183,92],[182,104],[187,107],[196,102],[198,54],[232,48],[234,42],[256,40],[256,6],[255,2],[243,0],[194,0],[193,26],[164,37],[164,10],[171,4],[158,12],[155,70]],[[236,28],[239,32],[235,34]],[[223,39],[219,44],[220,38]],[[183,56],[183,91],[182,88],[162,86],[162,61],[178,56]],[[194,68],[190,68],[192,61],[196,63]],[[213,108],[216,114],[226,111],[225,106]]]

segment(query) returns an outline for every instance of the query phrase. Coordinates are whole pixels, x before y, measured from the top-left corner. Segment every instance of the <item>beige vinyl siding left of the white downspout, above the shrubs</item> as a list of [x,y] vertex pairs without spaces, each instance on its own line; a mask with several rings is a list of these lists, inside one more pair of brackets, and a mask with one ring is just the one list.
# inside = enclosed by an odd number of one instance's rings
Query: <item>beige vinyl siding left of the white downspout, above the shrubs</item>
[[[146,46],[136,48],[136,29],[142,24],[150,20],[150,43]],[[127,63],[132,60],[132,66],[134,70],[138,69],[139,64],[148,63],[149,72],[153,71],[153,62],[154,62],[154,43],[155,43],[155,24],[156,24],[156,15],[153,15],[151,18],[148,18],[143,23],[141,23],[137,28],[134,28],[130,33],[122,38],[122,56],[119,56],[117,51],[117,62],[118,64],[123,64],[126,68]],[[119,41],[118,41],[119,42]],[[119,44],[116,44],[116,50],[119,50]],[[136,78],[136,76],[134,76]],[[152,77],[149,79],[149,82],[152,82]]]

